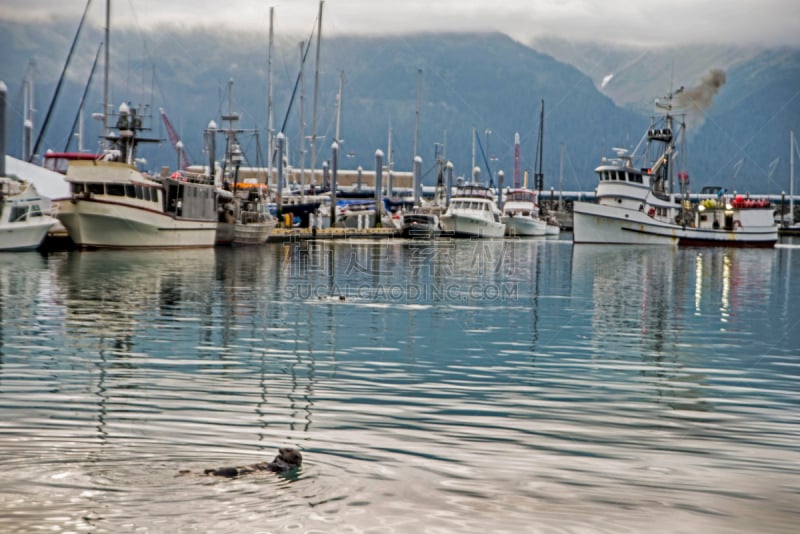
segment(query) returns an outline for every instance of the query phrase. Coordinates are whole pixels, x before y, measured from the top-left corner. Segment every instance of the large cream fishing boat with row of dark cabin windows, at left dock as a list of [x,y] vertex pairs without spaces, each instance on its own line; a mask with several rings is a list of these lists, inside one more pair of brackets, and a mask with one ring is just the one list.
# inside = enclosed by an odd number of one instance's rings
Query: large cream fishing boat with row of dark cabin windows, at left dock
[[175,173],[156,178],[134,165],[142,130],[136,110],[123,104],[111,148],[97,160],[73,160],[59,200],[58,219],[79,248],[210,247],[217,230],[213,183]]

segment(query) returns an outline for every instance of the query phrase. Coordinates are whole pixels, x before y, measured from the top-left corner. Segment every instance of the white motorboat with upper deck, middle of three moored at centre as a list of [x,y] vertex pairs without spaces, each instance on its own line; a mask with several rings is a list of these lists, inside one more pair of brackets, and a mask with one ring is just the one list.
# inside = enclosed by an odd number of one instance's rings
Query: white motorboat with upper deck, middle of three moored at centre
[[456,188],[439,222],[442,233],[454,237],[503,237],[506,225],[500,215],[491,188],[468,184]]

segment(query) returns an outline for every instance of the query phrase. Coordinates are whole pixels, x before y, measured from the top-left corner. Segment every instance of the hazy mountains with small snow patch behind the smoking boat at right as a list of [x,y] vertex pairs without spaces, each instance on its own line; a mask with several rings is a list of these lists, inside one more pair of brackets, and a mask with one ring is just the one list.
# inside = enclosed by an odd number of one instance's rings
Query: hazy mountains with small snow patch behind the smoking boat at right
[[724,71],[726,82],[713,105],[702,120],[689,122],[693,190],[725,185],[771,194],[789,191],[789,130],[800,129],[800,50],[653,49],[560,39],[530,45],[578,68],[616,104],[643,114],[651,113],[653,99],[670,88],[692,87],[712,68]]

